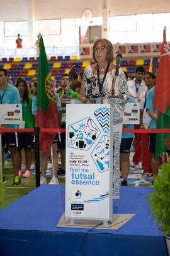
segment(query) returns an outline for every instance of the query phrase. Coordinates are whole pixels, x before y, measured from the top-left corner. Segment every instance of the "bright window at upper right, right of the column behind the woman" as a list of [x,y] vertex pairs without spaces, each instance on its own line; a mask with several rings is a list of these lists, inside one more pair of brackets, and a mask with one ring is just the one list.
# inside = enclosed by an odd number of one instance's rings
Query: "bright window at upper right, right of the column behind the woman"
[[117,42],[143,43],[162,42],[163,28],[167,26],[167,41],[170,40],[170,13],[111,16],[108,39]]

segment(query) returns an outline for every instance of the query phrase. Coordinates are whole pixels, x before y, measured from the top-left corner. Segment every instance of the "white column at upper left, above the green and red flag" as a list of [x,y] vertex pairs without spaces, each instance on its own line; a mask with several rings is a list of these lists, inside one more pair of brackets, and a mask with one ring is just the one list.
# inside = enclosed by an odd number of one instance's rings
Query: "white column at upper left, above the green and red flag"
[[35,0],[27,0],[29,47],[35,44]]

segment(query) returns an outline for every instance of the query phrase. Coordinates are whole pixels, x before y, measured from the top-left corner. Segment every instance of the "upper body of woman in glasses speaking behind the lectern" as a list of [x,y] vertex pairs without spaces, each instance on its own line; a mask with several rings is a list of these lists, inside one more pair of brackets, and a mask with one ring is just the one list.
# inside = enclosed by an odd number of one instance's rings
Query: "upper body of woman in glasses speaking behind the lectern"
[[118,67],[118,76],[115,77],[113,46],[109,40],[98,39],[94,42],[93,59],[95,63],[84,68],[81,95],[106,98],[114,94],[128,100],[130,95],[122,68]]

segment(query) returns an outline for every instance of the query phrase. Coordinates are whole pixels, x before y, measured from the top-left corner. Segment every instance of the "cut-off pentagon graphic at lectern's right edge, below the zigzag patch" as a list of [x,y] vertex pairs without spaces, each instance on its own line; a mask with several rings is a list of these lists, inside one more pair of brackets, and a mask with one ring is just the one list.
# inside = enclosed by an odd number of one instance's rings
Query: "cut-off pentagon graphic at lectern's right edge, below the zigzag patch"
[[91,152],[91,157],[96,164],[99,173],[109,171],[109,136],[103,135],[96,147]]

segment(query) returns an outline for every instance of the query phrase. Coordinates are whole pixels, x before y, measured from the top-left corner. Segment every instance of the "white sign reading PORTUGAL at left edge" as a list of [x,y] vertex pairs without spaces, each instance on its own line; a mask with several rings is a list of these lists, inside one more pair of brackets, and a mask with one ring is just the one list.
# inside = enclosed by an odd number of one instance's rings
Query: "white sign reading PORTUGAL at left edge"
[[22,123],[22,106],[21,104],[1,104],[0,124],[21,124]]

